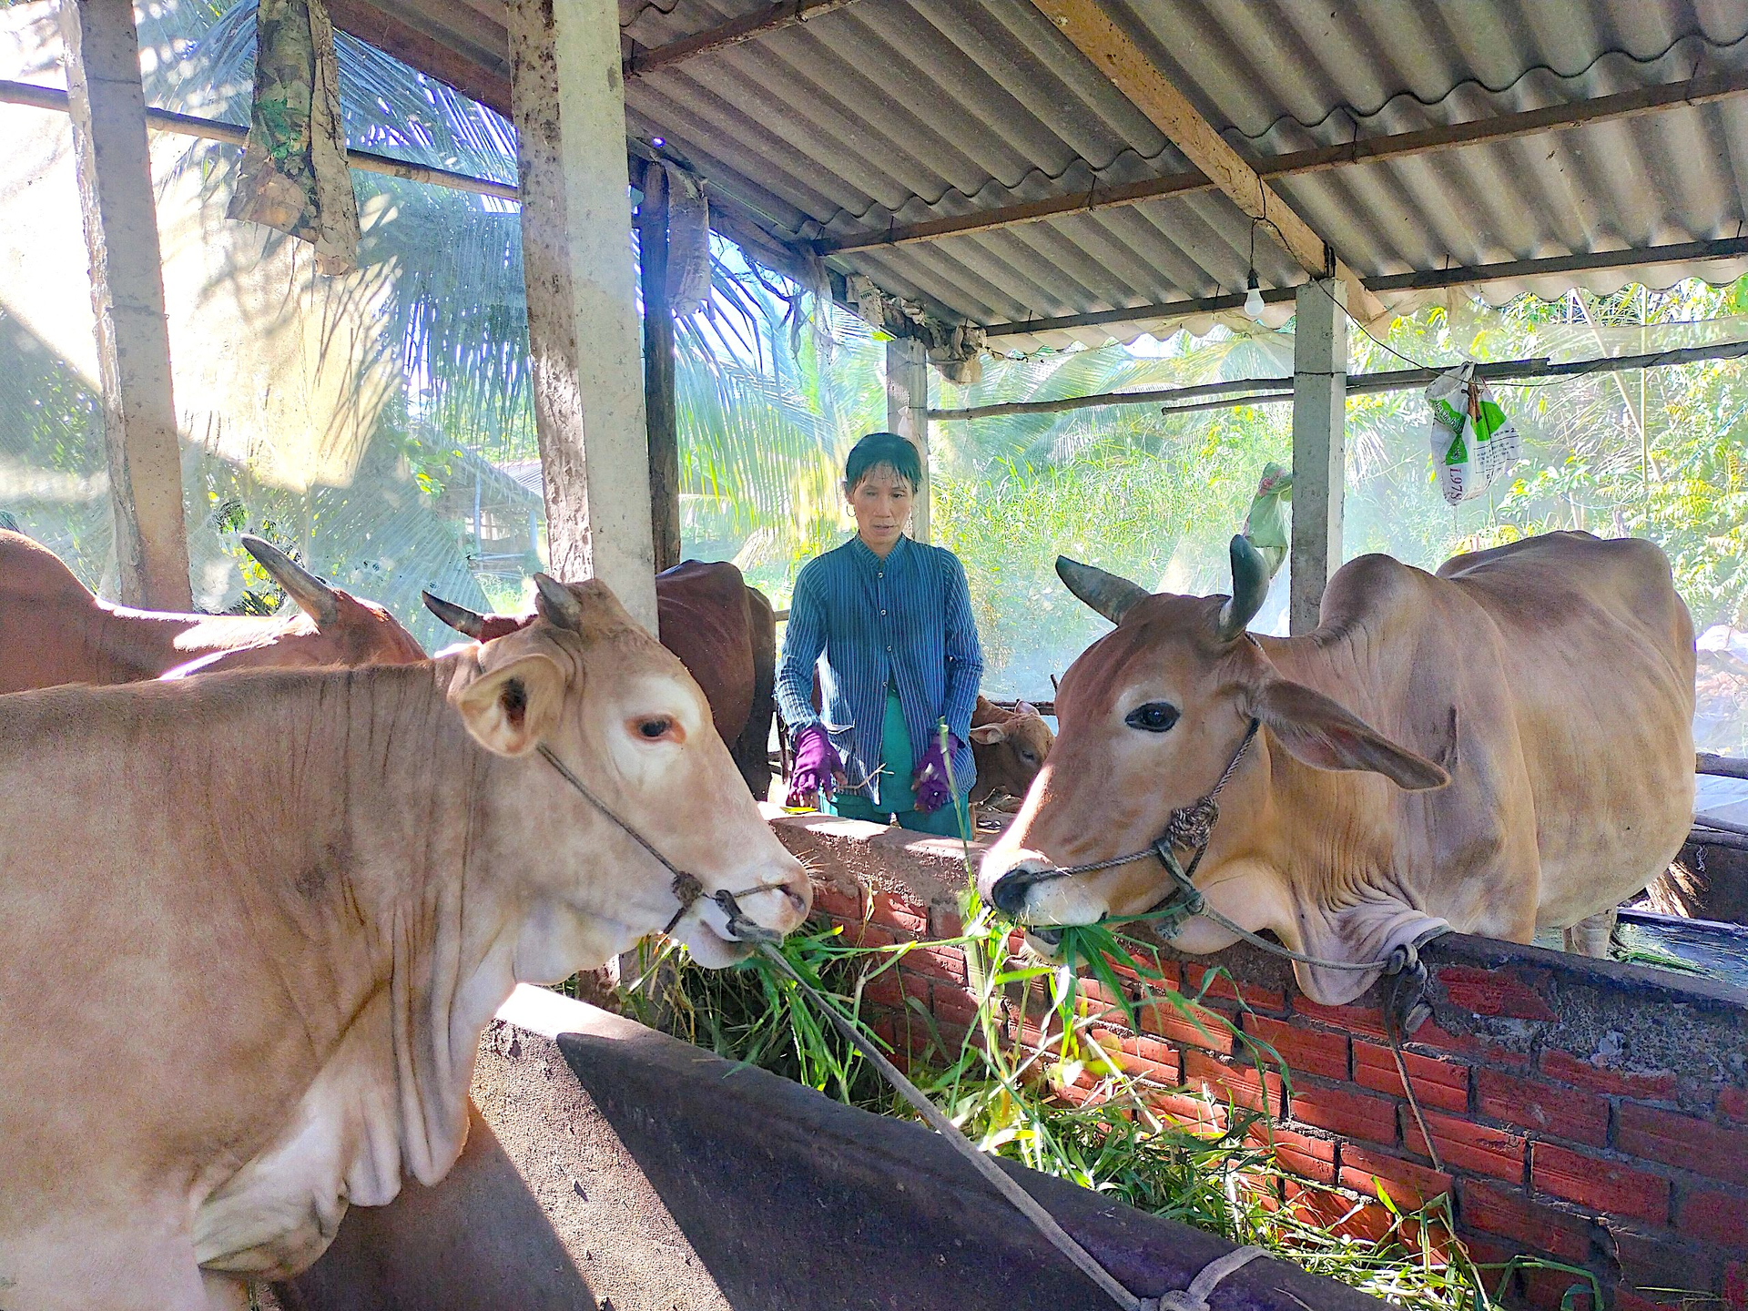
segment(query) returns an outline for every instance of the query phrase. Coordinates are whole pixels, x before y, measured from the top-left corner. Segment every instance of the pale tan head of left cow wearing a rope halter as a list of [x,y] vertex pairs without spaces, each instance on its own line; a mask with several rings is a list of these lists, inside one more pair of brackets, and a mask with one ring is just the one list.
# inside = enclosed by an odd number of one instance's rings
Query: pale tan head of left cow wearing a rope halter
[[699,879],[703,897],[673,937],[701,965],[729,965],[752,951],[713,893],[734,893],[759,928],[795,928],[809,905],[806,871],[750,802],[685,666],[605,584],[566,586],[544,573],[535,582],[535,617],[454,652],[449,685],[474,741],[498,757],[526,757],[498,802],[519,816],[496,827],[510,846],[482,853],[488,867],[514,869],[533,884],[516,977],[552,982],[600,965],[661,930],[682,905],[673,876],[538,759],[540,746]]

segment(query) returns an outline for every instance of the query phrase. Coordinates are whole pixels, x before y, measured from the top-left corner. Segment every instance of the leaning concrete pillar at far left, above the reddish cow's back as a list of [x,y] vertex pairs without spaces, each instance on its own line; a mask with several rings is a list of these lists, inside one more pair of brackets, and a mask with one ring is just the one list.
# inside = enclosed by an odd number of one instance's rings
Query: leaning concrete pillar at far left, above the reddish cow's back
[[124,605],[192,610],[170,325],[133,0],[61,0]]

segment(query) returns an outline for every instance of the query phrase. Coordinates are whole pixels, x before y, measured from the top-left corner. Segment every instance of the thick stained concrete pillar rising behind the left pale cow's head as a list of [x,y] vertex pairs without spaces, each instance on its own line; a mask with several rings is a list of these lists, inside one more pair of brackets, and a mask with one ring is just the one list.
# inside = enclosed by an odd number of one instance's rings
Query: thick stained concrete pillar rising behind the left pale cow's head
[[547,545],[656,631],[626,98],[612,0],[510,0],[510,108]]

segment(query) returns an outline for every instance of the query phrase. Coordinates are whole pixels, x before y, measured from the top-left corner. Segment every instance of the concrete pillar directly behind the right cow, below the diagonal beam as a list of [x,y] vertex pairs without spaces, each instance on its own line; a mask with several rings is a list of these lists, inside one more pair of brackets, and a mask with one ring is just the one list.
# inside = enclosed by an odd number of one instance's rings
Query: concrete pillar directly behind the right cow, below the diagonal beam
[[1309,281],[1294,302],[1294,540],[1288,629],[1318,622],[1323,584],[1341,568],[1346,486],[1348,287]]

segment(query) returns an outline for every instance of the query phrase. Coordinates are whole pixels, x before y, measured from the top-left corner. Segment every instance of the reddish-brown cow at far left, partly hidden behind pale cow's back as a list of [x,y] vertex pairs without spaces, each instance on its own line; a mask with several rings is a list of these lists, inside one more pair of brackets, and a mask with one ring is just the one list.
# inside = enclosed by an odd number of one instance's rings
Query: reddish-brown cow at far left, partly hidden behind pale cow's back
[[259,537],[243,545],[290,615],[177,615],[100,601],[59,556],[0,531],[0,692],[262,666],[406,664],[425,650],[388,610],[330,587]]

